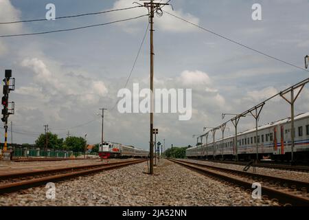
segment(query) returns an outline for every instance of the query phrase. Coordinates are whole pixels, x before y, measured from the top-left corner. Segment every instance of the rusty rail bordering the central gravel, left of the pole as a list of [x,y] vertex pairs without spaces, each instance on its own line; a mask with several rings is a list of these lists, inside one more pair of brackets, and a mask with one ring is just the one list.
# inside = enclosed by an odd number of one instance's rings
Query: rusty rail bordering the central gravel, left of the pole
[[[91,173],[97,173],[102,170],[111,170],[114,168],[121,168],[123,166],[128,166],[131,164],[137,164],[141,162],[145,162],[146,159],[139,159],[139,160],[134,160],[134,161],[129,161],[129,162],[115,162],[113,164],[102,164],[104,166],[98,167],[98,168],[91,168],[87,170],[80,170],[80,171],[73,171],[70,173],[64,173],[60,175],[52,175],[48,177],[41,177],[37,179],[31,179],[31,180],[25,180],[25,181],[18,181],[15,183],[10,183],[10,184],[3,184],[0,185],[0,195],[3,193],[9,193],[9,192],[15,192],[17,190],[25,189],[25,188],[32,188],[35,186],[41,186],[42,184],[45,184],[49,181],[60,181],[63,179],[69,179],[72,177],[78,177],[80,175],[89,175]],[[108,166],[106,166],[108,165]]]

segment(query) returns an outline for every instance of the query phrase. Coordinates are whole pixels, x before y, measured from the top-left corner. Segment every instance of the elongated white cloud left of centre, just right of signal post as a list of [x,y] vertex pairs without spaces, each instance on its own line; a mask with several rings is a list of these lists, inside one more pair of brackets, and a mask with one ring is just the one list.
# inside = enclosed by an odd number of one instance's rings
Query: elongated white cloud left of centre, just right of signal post
[[45,61],[39,58],[26,58],[22,61],[21,66],[32,69],[34,87],[21,87],[18,90],[19,94],[32,95],[34,92],[41,92],[47,94],[47,97],[45,97],[47,100],[55,100],[55,98],[56,100],[67,100],[67,98],[70,98],[66,102],[69,103],[69,106],[66,106],[70,108],[83,102],[94,104],[99,101],[100,97],[108,94],[104,82],[78,74],[64,74],[58,67],[50,70]]

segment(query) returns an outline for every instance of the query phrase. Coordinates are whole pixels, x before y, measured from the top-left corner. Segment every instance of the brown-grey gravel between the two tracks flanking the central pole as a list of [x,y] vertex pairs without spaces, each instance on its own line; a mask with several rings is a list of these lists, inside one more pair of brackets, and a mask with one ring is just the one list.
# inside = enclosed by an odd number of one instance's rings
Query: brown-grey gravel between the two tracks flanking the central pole
[[209,179],[178,164],[161,160],[156,175],[147,164],[56,183],[56,199],[38,187],[0,195],[0,206],[270,206],[247,192]]

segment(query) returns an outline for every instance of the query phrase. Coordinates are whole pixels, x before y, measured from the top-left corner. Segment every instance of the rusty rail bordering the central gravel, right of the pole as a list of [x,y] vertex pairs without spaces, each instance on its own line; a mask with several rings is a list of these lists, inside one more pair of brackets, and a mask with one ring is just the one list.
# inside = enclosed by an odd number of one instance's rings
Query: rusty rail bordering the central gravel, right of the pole
[[[212,168],[210,169],[207,166],[203,166],[203,164],[183,162],[181,160],[176,160],[176,159],[170,159],[170,161],[175,162],[177,164],[181,164],[182,166],[185,166],[186,168],[190,168],[192,170],[198,171],[198,173],[217,177],[218,179],[223,179],[225,181],[229,181],[233,184],[238,184],[240,186],[244,186],[244,188],[252,190],[253,183],[251,181],[248,181],[248,180],[246,181],[242,179],[242,177],[239,177],[239,176],[232,177],[229,174],[218,173],[218,170],[216,172],[216,170],[213,170]],[[251,173],[249,175],[251,175]],[[290,204],[293,206],[309,206],[308,197],[302,197],[299,195],[295,195],[294,193],[285,192],[284,190],[277,190],[276,188],[262,186],[262,194],[273,197],[274,199],[278,199],[281,203]]]

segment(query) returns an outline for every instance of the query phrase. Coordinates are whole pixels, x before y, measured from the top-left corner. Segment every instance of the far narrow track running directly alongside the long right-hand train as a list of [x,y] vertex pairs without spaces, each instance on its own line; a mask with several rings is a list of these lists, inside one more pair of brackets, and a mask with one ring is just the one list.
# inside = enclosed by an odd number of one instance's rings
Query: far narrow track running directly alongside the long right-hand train
[[[233,161],[227,161],[227,160],[205,160],[205,159],[196,159],[195,160],[201,160],[201,161],[207,161],[207,162],[215,162],[215,163],[222,163],[222,164],[236,164],[241,166],[246,166],[248,162],[233,162]],[[291,171],[299,171],[299,172],[306,172],[309,173],[309,166],[295,166],[295,165],[285,165],[285,164],[266,164],[266,163],[258,163],[254,164],[256,167],[264,167],[264,168],[275,168],[280,170],[291,170]]]

